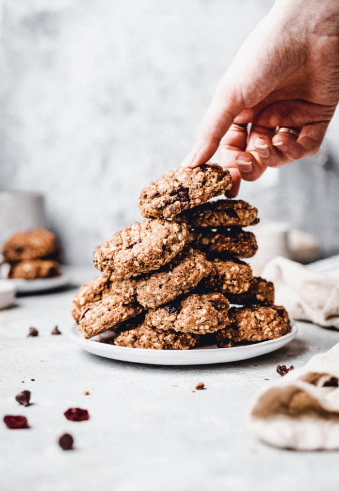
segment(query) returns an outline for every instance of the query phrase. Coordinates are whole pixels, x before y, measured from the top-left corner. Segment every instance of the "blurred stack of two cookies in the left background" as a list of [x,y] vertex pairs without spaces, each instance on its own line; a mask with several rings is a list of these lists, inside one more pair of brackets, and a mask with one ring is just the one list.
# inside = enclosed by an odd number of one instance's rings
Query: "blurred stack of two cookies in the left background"
[[17,232],[3,244],[1,252],[9,265],[8,278],[51,278],[61,274],[61,249],[55,234],[46,228]]

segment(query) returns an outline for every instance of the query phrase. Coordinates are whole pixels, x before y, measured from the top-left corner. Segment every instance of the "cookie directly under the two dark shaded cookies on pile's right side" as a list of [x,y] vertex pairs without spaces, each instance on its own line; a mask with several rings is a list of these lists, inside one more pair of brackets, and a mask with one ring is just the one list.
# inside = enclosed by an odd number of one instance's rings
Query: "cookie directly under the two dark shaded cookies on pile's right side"
[[199,290],[205,288],[209,292],[241,294],[246,292],[253,281],[252,268],[240,259],[214,258],[212,272],[205,281],[199,285]]

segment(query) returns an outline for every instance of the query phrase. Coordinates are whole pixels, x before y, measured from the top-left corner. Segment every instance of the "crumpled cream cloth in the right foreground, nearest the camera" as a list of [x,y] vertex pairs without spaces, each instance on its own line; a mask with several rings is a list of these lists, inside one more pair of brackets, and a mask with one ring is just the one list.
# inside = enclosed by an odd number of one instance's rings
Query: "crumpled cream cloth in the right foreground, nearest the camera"
[[277,447],[339,449],[338,379],[339,343],[266,388],[250,408],[249,429]]

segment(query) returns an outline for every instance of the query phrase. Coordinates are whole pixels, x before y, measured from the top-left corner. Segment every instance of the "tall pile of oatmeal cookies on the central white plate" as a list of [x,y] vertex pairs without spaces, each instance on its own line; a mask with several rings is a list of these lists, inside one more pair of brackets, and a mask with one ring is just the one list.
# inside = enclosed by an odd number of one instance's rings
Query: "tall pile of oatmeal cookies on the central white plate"
[[[209,201],[231,186],[229,172],[208,163],[173,169],[141,192],[146,219],[96,248],[103,276],[73,301],[85,338],[114,329],[119,346],[188,349],[210,333],[225,347],[287,332],[273,285],[239,259],[257,250],[242,228],[258,222],[257,210],[241,200]],[[242,307],[230,309],[230,301]]]

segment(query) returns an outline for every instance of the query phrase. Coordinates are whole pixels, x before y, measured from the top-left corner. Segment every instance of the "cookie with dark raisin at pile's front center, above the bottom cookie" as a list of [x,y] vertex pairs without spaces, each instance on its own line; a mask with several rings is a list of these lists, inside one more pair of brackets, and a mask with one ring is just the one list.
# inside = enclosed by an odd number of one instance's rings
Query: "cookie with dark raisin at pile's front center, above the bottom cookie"
[[149,310],[145,324],[157,329],[205,334],[225,327],[229,301],[220,293],[192,294]]

